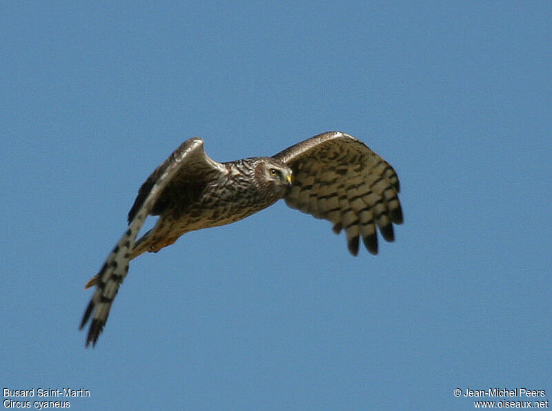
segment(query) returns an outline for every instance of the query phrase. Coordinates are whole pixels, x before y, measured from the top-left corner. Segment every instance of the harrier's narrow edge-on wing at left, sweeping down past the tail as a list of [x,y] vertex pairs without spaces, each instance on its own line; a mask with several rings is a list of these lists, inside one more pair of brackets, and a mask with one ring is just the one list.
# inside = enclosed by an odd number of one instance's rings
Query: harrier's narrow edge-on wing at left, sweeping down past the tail
[[162,202],[164,196],[170,194],[166,193],[170,183],[198,176],[206,179],[210,173],[221,173],[224,170],[223,165],[211,160],[205,154],[201,138],[190,138],[182,143],[144,182],[128,214],[127,231],[108,255],[98,275],[88,284],[96,285],[97,288],[86,308],[80,327],[82,329],[88,319],[92,318],[86,346],[90,343],[92,346],[96,344],[106,324],[113,299],[128,272],[128,263],[132,257],[135,257],[132,255],[132,249],[135,246],[136,236],[146,216],[157,214],[155,211],[159,211],[159,201]]

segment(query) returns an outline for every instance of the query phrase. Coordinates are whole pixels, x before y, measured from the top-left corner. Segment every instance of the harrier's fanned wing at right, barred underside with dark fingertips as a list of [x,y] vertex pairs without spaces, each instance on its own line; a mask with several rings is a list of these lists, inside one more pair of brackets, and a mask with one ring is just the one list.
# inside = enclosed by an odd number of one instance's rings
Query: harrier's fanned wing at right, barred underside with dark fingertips
[[274,158],[293,170],[286,204],[331,221],[335,233],[344,229],[351,254],[358,253],[359,236],[368,251],[377,253],[376,226],[385,240],[394,240],[393,223],[402,223],[399,179],[393,167],[364,143],[331,131]]

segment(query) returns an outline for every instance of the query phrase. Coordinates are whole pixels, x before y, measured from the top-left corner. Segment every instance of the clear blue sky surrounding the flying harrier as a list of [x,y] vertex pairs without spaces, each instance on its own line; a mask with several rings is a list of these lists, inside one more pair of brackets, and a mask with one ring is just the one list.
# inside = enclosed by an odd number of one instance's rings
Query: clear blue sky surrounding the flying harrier
[[[2,3],[1,388],[90,390],[79,410],[552,401],[551,4]],[[397,170],[395,243],[352,257],[279,202],[132,262],[83,348],[83,284],[182,141],[225,161],[335,129]]]

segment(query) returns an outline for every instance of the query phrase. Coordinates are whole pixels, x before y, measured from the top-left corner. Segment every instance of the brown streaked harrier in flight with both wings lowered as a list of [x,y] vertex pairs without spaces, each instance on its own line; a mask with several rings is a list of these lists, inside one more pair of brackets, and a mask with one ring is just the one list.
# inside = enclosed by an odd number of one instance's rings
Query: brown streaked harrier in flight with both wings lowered
[[[284,198],[292,209],[329,220],[335,233],[343,229],[349,251],[357,255],[359,237],[376,254],[376,227],[391,242],[393,223],[402,223],[397,173],[348,134],[330,131],[272,157],[230,162],[212,160],[203,145],[201,138],[186,140],[140,187],[128,229],[85,287],[96,286],[80,327],[91,319],[87,347],[106,324],[130,260],[189,231],[242,220]],[[159,220],[137,240],[147,215]]]

